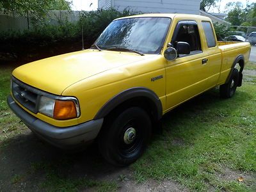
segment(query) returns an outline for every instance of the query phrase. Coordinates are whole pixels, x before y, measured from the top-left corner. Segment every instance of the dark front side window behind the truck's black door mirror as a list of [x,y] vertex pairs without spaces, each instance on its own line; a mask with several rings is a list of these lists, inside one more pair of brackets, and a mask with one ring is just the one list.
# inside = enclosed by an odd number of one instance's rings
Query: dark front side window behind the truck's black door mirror
[[181,21],[175,29],[176,34],[173,36],[173,47],[177,49],[177,42],[187,42],[190,51],[202,51],[198,26],[196,22]]

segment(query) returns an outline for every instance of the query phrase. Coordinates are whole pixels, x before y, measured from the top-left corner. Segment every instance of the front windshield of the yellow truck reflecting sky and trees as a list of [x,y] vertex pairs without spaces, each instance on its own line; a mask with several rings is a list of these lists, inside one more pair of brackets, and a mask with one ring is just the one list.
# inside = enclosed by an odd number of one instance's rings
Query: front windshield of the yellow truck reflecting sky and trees
[[167,17],[114,20],[102,32],[95,44],[103,50],[118,47],[146,54],[159,54],[170,23],[171,19]]

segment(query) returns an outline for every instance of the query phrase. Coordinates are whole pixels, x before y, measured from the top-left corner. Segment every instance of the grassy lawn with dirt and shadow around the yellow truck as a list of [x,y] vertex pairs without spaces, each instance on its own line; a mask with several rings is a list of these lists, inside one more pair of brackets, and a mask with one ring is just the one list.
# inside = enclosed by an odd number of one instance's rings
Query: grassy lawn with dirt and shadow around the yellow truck
[[8,109],[12,68],[1,68],[0,191],[117,191],[168,182],[186,191],[256,191],[256,63],[246,69],[232,99],[220,99],[214,88],[182,104],[163,117],[163,132],[143,157],[114,168],[94,145],[67,153],[31,134]]

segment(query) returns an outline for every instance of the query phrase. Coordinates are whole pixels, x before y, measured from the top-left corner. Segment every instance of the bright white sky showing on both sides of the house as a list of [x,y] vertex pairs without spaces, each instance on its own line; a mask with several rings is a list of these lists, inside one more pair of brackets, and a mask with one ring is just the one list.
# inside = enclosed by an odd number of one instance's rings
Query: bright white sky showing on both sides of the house
[[[71,0],[70,0],[71,1]],[[157,1],[157,0],[156,0]],[[179,1],[179,0],[177,0]],[[220,0],[220,3],[218,5],[220,6],[220,12],[225,12],[225,5],[228,2],[236,2],[241,1],[244,5],[246,4],[246,0]],[[97,10],[98,8],[98,0],[72,0],[72,10],[84,10],[84,11],[90,11],[90,10]],[[248,0],[249,3],[256,3],[256,0]],[[209,12],[217,12],[218,8],[211,8]]]

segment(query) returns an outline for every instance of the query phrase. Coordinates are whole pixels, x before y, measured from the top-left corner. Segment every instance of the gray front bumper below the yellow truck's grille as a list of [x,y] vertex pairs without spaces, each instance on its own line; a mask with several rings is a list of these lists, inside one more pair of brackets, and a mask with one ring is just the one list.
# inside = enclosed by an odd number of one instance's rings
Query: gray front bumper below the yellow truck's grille
[[56,127],[30,115],[15,103],[10,95],[7,99],[8,105],[31,131],[40,138],[60,148],[72,148],[85,142],[94,140],[103,124],[103,118],[91,120],[83,124],[70,127]]

